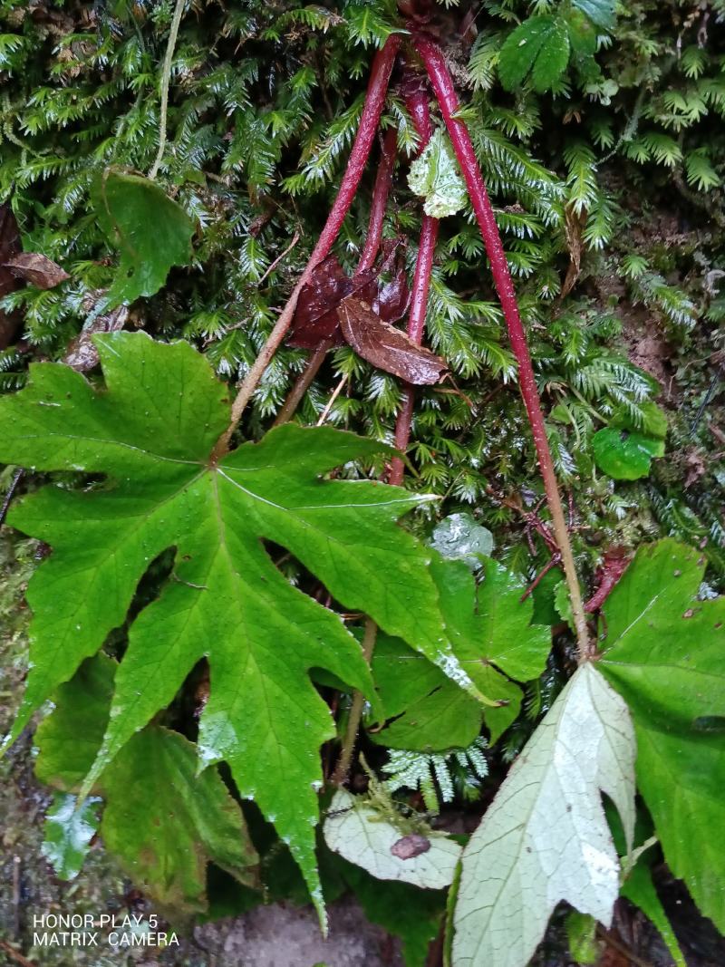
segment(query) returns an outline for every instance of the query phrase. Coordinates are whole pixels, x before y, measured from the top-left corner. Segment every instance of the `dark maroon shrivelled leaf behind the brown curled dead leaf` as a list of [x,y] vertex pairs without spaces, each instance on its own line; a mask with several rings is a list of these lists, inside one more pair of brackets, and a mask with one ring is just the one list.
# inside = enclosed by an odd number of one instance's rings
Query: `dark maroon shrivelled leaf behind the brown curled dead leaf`
[[352,294],[372,301],[377,294],[376,278],[377,273],[372,269],[349,278],[336,257],[328,255],[300,293],[289,345],[302,349],[317,349],[321,343],[329,341],[335,346],[343,345],[336,309],[346,296]]

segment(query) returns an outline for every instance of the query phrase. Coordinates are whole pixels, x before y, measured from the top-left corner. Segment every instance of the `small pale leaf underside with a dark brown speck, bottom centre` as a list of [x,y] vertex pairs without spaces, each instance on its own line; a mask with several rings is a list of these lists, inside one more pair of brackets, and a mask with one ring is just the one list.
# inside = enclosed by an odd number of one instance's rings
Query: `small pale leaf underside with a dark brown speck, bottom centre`
[[[334,853],[362,866],[378,880],[443,890],[453,880],[461,847],[444,833],[410,835],[362,797],[335,793],[323,828]],[[406,858],[407,857],[407,858]]]

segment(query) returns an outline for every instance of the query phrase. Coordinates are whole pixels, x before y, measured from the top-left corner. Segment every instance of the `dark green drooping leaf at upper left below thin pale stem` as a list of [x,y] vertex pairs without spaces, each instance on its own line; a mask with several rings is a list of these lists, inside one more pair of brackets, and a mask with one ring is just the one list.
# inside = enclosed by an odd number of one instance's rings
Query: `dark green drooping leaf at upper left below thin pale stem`
[[93,184],[91,200],[102,231],[121,256],[109,307],[153,296],[172,265],[188,265],[194,223],[155,182],[105,171]]

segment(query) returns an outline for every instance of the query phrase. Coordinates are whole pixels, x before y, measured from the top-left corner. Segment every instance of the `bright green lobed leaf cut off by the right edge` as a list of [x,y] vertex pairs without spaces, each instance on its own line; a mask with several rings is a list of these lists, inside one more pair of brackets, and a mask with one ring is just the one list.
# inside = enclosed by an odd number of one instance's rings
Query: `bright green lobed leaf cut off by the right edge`
[[637,781],[668,864],[725,930],[725,599],[698,601],[701,554],[666,540],[639,551],[604,606],[597,667],[629,705]]

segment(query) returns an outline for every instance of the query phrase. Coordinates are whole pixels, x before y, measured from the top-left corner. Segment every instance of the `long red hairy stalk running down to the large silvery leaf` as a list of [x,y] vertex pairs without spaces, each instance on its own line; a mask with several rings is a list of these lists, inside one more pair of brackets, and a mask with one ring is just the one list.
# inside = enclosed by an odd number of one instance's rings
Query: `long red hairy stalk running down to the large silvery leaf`
[[566,527],[564,508],[557,484],[554,461],[546,437],[546,426],[544,425],[541,401],[536,387],[534,367],[532,366],[529,346],[516,302],[511,274],[508,270],[506,252],[504,251],[501,235],[496,224],[496,218],[493,214],[483,176],[478,167],[478,160],[471,141],[471,135],[463,121],[457,117],[459,108],[458,97],[455,93],[455,87],[443,51],[433,40],[421,34],[415,37],[415,45],[430,78],[433,92],[441,106],[441,112],[446,122],[446,127],[448,128],[450,141],[460,164],[469,197],[471,198],[471,204],[476,213],[483,244],[491,265],[491,274],[504,311],[508,337],[511,342],[513,354],[518,363],[521,396],[523,397],[529,424],[534,435],[534,444],[536,446],[538,465],[546,492],[546,501],[549,506],[549,513],[551,513],[556,541],[562,554],[566,585],[571,601],[571,613],[579,646],[579,659],[580,661],[586,661],[593,657],[593,649],[587,627],[584,602],[582,601],[574,555],[571,550],[571,542],[569,541]]

